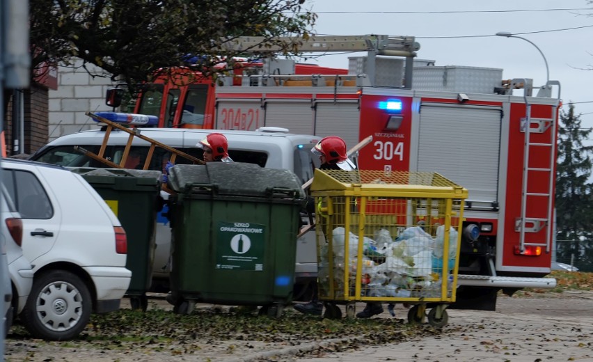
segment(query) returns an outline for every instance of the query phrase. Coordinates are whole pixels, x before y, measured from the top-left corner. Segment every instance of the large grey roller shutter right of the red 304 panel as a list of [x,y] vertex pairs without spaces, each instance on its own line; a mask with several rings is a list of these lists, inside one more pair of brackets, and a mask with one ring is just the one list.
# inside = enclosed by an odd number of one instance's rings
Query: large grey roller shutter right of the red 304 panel
[[469,191],[467,202],[498,202],[500,107],[422,104],[418,171],[438,172]]

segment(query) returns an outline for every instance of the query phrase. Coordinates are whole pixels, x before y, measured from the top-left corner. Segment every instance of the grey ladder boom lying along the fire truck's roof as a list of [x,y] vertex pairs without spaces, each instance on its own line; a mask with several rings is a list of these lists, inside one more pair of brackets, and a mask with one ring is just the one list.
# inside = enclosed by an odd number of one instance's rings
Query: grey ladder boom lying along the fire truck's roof
[[406,58],[404,88],[412,88],[413,58],[420,44],[413,36],[310,36],[266,38],[263,36],[239,36],[223,39],[223,46],[235,52],[246,54],[274,54],[282,50],[280,45],[264,47],[264,42],[292,44],[302,53],[325,52],[368,52],[367,77],[375,79],[376,56],[403,56]]

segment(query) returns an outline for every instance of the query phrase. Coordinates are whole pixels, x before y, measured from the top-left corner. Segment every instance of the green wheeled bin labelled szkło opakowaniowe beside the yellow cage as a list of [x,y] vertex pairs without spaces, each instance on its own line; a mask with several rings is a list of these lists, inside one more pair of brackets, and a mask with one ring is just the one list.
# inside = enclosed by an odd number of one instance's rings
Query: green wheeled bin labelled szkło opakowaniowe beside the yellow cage
[[171,303],[262,306],[282,314],[292,301],[300,210],[292,171],[209,162],[169,170]]

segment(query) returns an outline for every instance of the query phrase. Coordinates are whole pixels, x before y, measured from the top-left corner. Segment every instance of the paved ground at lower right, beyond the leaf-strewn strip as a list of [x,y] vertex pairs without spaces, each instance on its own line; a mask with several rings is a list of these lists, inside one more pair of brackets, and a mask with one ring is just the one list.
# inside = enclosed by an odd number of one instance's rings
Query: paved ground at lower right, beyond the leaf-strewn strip
[[593,292],[500,297],[496,312],[449,310],[443,332],[298,361],[593,361]]

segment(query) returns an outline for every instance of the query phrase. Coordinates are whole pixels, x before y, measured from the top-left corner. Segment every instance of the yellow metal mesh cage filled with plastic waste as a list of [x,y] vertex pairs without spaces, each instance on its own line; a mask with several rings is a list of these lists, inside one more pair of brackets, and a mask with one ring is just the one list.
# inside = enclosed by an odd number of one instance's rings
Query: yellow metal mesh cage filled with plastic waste
[[438,173],[316,170],[319,299],[455,301],[467,189]]

